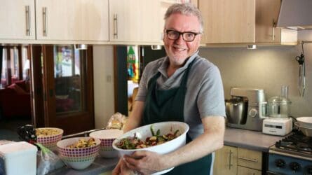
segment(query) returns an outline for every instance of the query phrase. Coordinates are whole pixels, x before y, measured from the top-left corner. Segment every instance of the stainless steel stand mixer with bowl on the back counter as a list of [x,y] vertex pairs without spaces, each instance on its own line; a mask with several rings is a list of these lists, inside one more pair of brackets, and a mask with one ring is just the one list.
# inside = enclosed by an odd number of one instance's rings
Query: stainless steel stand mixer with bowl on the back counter
[[226,100],[229,127],[262,131],[266,98],[262,89],[231,88],[231,99]]

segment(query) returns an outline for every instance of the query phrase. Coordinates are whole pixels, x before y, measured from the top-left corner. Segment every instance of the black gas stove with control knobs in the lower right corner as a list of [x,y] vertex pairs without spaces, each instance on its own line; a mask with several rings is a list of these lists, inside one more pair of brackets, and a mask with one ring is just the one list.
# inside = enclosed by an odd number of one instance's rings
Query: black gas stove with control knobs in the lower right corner
[[312,137],[295,131],[271,146],[268,174],[312,175]]

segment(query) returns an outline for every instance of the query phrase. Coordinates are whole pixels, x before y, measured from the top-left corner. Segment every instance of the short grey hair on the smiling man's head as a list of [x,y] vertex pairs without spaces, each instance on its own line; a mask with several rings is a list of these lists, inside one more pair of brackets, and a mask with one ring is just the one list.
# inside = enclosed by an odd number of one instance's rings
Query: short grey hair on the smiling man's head
[[200,32],[203,34],[203,18],[201,16],[201,11],[198,10],[193,3],[174,3],[170,6],[167,11],[165,12],[164,20],[170,17],[173,13],[180,13],[182,15],[194,15],[197,17],[198,21],[200,22]]

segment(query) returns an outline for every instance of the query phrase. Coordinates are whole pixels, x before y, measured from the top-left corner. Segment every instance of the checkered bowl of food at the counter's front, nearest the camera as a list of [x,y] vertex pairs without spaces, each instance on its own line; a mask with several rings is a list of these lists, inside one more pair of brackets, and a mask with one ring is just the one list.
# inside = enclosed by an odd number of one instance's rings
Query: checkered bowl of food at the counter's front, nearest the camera
[[100,151],[100,139],[95,139],[95,145],[86,148],[69,148],[68,146],[76,144],[79,139],[92,139],[92,137],[74,137],[57,142],[57,151],[65,164],[73,169],[85,169],[89,167]]

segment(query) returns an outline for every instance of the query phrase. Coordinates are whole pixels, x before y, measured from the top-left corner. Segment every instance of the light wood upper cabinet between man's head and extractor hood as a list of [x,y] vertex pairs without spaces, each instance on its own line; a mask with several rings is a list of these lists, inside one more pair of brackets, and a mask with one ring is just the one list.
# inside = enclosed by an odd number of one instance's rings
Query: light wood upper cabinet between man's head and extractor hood
[[202,43],[297,43],[297,31],[276,28],[280,0],[198,0]]

